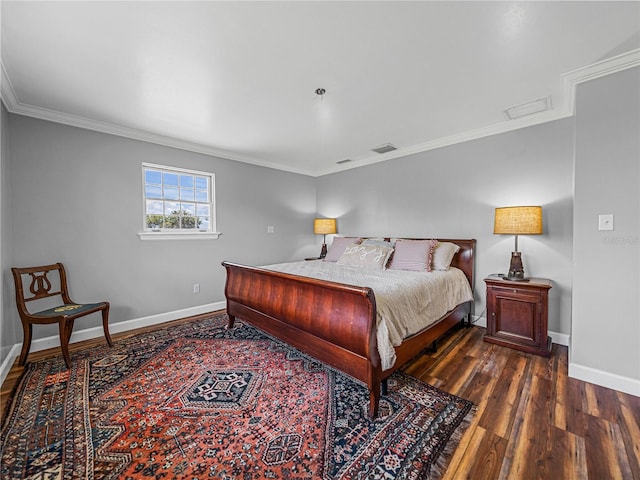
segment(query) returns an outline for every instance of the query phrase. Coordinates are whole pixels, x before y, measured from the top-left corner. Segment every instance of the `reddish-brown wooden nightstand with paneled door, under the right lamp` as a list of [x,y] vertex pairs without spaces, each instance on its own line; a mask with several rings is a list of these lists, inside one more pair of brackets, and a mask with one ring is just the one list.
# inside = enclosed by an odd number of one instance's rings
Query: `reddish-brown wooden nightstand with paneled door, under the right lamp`
[[498,276],[487,284],[487,333],[485,342],[548,357],[548,294],[551,280],[531,278],[512,282]]

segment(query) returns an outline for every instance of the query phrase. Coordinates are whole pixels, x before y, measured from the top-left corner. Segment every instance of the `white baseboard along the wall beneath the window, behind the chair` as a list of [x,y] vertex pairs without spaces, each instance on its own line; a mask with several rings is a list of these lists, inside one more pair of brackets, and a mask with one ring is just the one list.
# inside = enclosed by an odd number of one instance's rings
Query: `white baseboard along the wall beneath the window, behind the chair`
[[[216,303],[208,303],[206,305],[199,305],[197,307],[185,308],[182,310],[175,310],[173,312],[159,313],[157,315],[150,315],[148,317],[134,318],[131,320],[125,320],[124,322],[110,323],[109,332],[112,334],[128,332],[130,330],[135,330],[136,328],[149,327],[151,325],[170,322],[172,320],[179,320],[181,318],[191,317],[193,315],[201,315],[203,313],[214,312],[216,310],[222,310],[225,308],[227,308],[227,303],[222,301]],[[86,328],[84,330],[78,330],[77,332],[74,331],[71,334],[69,343],[90,340],[92,338],[102,336],[102,325],[100,325],[99,327]],[[32,340],[31,349],[29,351],[38,352],[40,350],[46,350],[48,348],[55,348],[59,346],[60,337],[58,335],[53,335],[50,337]],[[0,366],[0,385],[4,382],[4,379],[9,374],[9,370],[13,366],[15,359],[20,355],[21,349],[22,343],[15,344],[9,351],[7,357],[4,359],[4,362],[2,362],[2,366]]]

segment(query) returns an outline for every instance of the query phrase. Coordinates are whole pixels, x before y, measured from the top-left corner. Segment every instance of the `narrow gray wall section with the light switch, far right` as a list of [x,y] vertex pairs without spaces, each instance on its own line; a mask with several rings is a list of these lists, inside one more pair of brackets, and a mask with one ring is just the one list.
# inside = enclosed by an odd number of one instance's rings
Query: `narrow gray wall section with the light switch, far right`
[[[578,87],[571,363],[640,380],[640,69]],[[598,215],[614,214],[613,231]],[[640,388],[638,388],[640,394]]]

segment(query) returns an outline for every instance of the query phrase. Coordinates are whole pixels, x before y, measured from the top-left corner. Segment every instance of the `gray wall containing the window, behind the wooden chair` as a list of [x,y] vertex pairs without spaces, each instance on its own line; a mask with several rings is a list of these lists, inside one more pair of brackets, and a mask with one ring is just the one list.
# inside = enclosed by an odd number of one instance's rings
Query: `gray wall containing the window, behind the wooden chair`
[[[110,300],[111,324],[224,300],[223,260],[292,261],[319,249],[312,232],[312,177],[8,117],[10,262],[65,263],[72,297]],[[223,235],[218,240],[141,241],[141,162],[215,173],[217,229]],[[267,225],[274,225],[275,233],[267,234]],[[199,294],[192,293],[194,283],[200,284]],[[10,315],[3,325],[18,322],[13,299],[6,300]],[[97,325],[96,314],[78,321],[76,329]],[[56,332],[54,326],[38,326],[34,338]],[[18,338],[7,335],[7,342],[20,342],[19,333]]]

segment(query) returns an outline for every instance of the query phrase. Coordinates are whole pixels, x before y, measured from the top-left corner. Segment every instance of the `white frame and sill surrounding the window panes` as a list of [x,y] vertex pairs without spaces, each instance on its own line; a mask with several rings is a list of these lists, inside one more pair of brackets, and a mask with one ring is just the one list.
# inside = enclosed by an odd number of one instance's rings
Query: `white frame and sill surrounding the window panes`
[[[145,193],[145,170],[146,169],[161,170],[163,172],[175,172],[177,174],[197,175],[200,177],[209,178],[209,205],[210,205],[210,217],[209,228],[207,230],[197,229],[151,229],[147,227],[147,215],[146,215],[146,202],[147,196]],[[220,235],[220,232],[216,229],[216,200],[215,200],[215,174],[211,172],[201,172],[197,170],[189,170],[186,168],[170,167],[167,165],[157,165],[154,163],[142,163],[142,231],[138,232],[140,240],[181,240],[181,239],[198,239],[198,240],[215,240]]]

